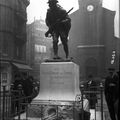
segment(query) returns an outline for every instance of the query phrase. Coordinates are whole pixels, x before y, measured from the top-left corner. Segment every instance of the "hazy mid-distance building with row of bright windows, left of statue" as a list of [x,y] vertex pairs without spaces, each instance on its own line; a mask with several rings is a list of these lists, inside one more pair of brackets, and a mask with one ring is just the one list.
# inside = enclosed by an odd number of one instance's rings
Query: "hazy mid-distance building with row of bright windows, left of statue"
[[40,63],[51,58],[52,39],[44,35],[47,29],[42,19],[27,25],[27,63],[32,68],[31,75],[37,80],[40,79]]

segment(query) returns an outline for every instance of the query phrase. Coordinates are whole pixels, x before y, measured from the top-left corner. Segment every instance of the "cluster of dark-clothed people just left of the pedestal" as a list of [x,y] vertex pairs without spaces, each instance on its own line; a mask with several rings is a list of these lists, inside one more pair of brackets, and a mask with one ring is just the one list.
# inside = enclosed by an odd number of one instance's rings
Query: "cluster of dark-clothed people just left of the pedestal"
[[28,104],[37,96],[38,92],[39,83],[34,80],[33,76],[16,74],[12,83],[13,112],[18,111],[19,109],[19,98],[22,99],[22,102]]

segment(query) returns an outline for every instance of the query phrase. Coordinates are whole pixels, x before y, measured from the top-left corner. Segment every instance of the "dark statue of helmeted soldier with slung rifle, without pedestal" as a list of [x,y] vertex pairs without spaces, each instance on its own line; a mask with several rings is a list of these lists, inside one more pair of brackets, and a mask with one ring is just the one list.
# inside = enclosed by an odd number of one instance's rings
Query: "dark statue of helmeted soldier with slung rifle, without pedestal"
[[[46,37],[48,37],[49,35],[52,36],[54,59],[59,59],[59,56],[58,56],[58,38],[59,37],[63,44],[66,58],[68,58],[69,50],[68,50],[67,42],[68,42],[68,33],[71,28],[71,19],[69,18],[66,10],[64,10],[57,3],[58,3],[57,0],[48,1],[49,9],[47,10],[45,21],[49,29],[52,26],[52,30],[50,32],[46,32],[45,36]],[[58,20],[60,21],[57,22]]]

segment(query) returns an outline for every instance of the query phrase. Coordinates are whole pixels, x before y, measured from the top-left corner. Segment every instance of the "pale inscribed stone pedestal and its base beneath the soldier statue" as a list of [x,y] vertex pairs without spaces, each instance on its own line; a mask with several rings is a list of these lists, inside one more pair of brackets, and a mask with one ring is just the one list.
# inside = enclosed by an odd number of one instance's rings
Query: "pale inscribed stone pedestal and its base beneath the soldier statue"
[[73,119],[75,113],[78,114],[73,111],[76,96],[80,94],[78,65],[73,62],[43,62],[40,65],[40,91],[31,102],[28,116],[52,120],[61,114],[66,119]]

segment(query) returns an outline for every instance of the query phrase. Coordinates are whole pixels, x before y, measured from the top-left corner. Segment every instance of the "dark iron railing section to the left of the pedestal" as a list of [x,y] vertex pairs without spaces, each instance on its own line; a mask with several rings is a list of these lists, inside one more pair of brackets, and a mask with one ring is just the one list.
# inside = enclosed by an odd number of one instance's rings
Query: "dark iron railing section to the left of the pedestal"
[[19,90],[6,90],[6,86],[3,86],[0,92],[0,120],[14,120],[17,116],[20,120],[22,113],[26,111],[26,107],[29,104],[32,96],[26,97],[22,88]]

